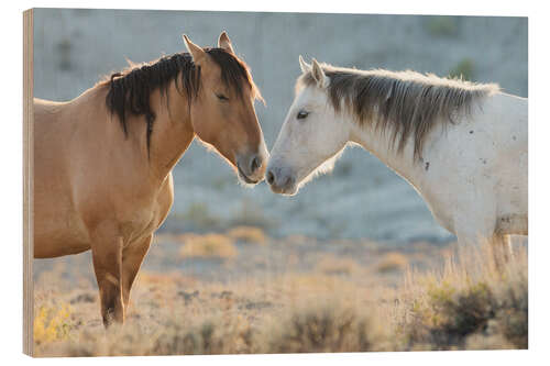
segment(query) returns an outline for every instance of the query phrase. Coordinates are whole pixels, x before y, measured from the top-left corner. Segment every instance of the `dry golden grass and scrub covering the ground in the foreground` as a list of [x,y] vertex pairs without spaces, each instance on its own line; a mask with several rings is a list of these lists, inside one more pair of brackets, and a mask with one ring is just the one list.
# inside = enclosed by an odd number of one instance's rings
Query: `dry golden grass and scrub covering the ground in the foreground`
[[[183,248],[195,243],[185,255],[233,247],[229,235],[184,240]],[[216,249],[205,249],[209,246]],[[219,257],[234,255],[229,253]],[[474,251],[430,271],[409,269],[394,288],[360,285],[365,274],[374,277],[372,284],[383,284],[384,277],[376,276],[389,275],[377,271],[381,263],[403,267],[403,258],[387,257],[363,270],[349,257],[326,254],[310,270],[227,282],[144,270],[127,323],[108,331],[91,286],[41,291],[35,352],[99,356],[527,347],[525,249],[504,271],[496,270],[490,252]],[[47,275],[52,284],[61,271]]]

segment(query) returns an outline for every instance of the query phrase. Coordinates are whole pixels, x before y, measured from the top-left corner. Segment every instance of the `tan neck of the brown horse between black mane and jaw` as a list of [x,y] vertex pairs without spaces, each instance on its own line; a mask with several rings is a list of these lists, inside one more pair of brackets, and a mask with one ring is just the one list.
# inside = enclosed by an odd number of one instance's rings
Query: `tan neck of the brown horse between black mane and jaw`
[[[189,147],[195,132],[187,96],[176,90],[174,81],[170,82],[166,96],[162,97],[158,90],[152,93],[151,107],[156,118],[153,123],[148,158],[145,155],[144,159],[148,159],[154,177],[164,180]],[[145,123],[143,129],[146,129]],[[142,137],[146,144],[145,134],[143,131]],[[147,154],[146,145],[144,151]]]

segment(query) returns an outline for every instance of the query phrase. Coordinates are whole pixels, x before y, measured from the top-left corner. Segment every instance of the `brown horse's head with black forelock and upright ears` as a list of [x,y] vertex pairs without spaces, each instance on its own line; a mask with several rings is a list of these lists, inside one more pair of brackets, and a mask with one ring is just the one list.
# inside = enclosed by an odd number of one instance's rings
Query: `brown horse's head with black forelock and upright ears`
[[200,73],[200,88],[190,106],[197,136],[220,153],[245,184],[264,178],[268,153],[254,111],[261,99],[246,65],[240,60],[226,32],[218,48],[201,48],[184,35]]

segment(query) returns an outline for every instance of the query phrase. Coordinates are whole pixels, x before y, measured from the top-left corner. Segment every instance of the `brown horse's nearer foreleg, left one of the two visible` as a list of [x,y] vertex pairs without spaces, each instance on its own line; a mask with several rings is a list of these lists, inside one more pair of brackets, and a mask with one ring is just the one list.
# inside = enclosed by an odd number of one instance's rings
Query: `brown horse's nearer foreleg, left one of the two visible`
[[124,322],[122,303],[122,239],[95,240],[91,247],[94,270],[99,287],[103,325]]

